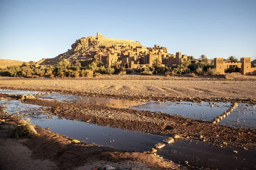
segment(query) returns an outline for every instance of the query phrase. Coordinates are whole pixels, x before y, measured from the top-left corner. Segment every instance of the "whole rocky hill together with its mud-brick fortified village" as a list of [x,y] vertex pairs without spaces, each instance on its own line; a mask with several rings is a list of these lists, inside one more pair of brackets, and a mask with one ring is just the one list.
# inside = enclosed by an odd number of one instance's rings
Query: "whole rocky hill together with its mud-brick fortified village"
[[163,65],[180,65],[187,55],[176,56],[169,54],[166,47],[154,45],[153,48],[145,47],[140,42],[121,40],[97,36],[90,36],[76,40],[71,45],[72,49],[52,59],[42,59],[36,65],[49,65],[67,59],[70,62],[79,62],[97,59],[111,66],[113,62],[120,62],[125,68],[136,68],[138,65],[152,65],[155,58],[162,60]]

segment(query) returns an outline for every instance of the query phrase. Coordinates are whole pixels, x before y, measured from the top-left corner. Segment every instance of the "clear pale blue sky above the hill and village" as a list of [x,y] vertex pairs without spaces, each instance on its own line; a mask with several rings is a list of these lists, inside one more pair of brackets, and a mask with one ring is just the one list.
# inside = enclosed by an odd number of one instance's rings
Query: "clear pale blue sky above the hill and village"
[[38,61],[81,37],[256,59],[256,0],[0,0],[0,59]]

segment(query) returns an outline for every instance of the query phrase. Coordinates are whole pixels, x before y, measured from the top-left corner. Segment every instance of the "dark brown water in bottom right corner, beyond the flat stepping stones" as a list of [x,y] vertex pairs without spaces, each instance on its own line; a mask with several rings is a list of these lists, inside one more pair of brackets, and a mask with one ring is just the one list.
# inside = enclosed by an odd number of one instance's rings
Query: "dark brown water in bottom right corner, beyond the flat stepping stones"
[[[238,151],[237,154],[233,150]],[[219,170],[252,170],[255,168],[256,150],[216,147],[204,142],[179,140],[168,144],[157,154],[165,159],[184,164]]]

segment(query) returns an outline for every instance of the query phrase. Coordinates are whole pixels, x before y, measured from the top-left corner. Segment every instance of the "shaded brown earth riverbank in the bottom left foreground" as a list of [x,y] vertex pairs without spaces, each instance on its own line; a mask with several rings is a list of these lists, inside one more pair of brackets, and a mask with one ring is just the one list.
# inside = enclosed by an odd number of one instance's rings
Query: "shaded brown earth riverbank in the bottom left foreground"
[[[3,108],[1,109],[3,111]],[[73,139],[36,126],[33,138],[10,138],[9,130],[20,125],[15,116],[3,116],[0,124],[1,170],[93,170],[111,165],[117,170],[190,169],[153,153],[126,152]]]

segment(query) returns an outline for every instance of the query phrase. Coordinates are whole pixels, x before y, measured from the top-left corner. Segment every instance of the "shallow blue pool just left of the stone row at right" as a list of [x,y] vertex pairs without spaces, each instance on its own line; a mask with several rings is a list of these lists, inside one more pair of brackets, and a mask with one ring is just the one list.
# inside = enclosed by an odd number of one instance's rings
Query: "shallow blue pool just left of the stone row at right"
[[[184,116],[186,118],[199,119],[204,121],[212,121],[215,117],[221,115],[230,108],[231,103],[203,102],[202,104],[193,102],[148,102],[145,105],[133,106],[133,109],[145,110],[152,112],[168,113],[172,115]],[[214,106],[214,108],[211,107]],[[219,107],[218,107],[219,106]]]

